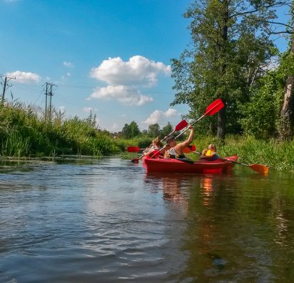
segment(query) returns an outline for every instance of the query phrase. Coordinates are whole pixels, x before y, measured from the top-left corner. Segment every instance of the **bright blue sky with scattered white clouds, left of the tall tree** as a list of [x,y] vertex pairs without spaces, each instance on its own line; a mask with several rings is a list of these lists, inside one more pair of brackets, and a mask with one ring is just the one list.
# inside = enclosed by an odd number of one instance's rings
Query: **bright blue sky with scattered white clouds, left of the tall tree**
[[170,106],[170,60],[190,40],[182,16],[190,3],[0,0],[0,74],[16,76],[6,99],[44,108],[50,82],[57,110],[81,119],[92,111],[101,129],[178,124],[188,107]]

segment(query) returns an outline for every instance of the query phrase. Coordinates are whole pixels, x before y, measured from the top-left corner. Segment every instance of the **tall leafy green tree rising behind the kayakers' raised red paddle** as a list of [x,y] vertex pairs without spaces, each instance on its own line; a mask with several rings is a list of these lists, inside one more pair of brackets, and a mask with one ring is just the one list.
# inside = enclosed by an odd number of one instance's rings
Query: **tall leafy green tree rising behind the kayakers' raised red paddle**
[[183,15],[191,19],[191,48],[172,59],[172,103],[188,104],[191,116],[199,116],[214,99],[225,107],[211,126],[219,138],[240,131],[238,103],[248,101],[249,89],[263,75],[276,52],[268,39],[266,20],[275,13],[265,8],[270,0],[195,1]]

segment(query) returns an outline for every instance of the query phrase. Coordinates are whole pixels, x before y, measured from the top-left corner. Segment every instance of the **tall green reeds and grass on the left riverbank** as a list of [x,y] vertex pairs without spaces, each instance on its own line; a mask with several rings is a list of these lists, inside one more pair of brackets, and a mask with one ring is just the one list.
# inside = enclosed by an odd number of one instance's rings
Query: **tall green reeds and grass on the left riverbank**
[[44,113],[19,102],[0,105],[1,155],[6,157],[79,154],[100,156],[119,152],[120,147],[105,131],[88,119],[44,120]]

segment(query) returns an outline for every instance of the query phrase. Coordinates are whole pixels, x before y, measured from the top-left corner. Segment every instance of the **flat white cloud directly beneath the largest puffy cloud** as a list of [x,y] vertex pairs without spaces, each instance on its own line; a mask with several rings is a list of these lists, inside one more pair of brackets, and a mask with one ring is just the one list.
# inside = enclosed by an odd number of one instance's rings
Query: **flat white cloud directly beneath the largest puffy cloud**
[[153,101],[151,96],[140,94],[131,86],[106,86],[97,87],[89,99],[118,100],[123,104],[141,106]]

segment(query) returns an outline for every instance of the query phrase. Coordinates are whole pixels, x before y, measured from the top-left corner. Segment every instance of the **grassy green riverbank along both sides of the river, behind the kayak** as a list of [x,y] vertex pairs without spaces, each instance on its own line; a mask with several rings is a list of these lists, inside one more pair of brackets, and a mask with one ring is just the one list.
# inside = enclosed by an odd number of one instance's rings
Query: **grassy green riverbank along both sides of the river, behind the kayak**
[[[148,147],[152,139],[113,139],[108,131],[96,128],[95,117],[64,119],[54,114],[45,121],[41,109],[24,104],[0,105],[0,155],[2,157],[55,157],[63,154],[93,157],[126,151],[128,146]],[[261,164],[294,172],[294,141],[280,143],[245,136],[227,136],[220,141],[213,136],[197,137],[193,144],[201,152],[208,144],[218,147],[220,157],[238,154],[245,164]],[[189,154],[198,159],[198,154]],[[124,152],[123,158],[135,155]]]

